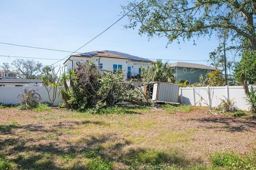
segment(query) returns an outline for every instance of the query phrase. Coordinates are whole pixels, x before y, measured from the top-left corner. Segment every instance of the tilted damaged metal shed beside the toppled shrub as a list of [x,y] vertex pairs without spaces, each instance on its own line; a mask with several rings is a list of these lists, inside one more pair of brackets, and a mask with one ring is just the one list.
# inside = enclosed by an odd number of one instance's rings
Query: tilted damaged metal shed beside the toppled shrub
[[180,85],[166,82],[150,82],[144,86],[144,93],[156,102],[178,102]]

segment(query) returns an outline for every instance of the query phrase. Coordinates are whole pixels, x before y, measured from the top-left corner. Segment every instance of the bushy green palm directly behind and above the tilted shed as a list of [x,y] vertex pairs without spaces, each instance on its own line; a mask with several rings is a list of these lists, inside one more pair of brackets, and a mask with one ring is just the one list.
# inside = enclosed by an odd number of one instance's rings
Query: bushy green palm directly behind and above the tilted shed
[[162,63],[162,60],[157,60],[156,63],[151,63],[143,72],[145,82],[159,81],[172,83],[175,80],[174,70],[169,66],[168,61]]

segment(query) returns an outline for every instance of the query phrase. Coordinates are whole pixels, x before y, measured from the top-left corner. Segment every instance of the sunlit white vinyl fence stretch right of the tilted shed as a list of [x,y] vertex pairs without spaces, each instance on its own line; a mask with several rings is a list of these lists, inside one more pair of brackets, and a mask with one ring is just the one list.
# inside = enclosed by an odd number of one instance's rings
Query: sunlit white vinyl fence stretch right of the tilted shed
[[[249,89],[256,88],[256,86],[252,85],[248,87]],[[210,102],[208,92],[210,98],[212,98],[212,107],[219,106],[220,99],[225,99],[225,97],[230,100],[234,99],[234,105],[238,109],[248,110],[250,107],[248,102],[246,102],[246,94],[244,93],[243,86],[180,88],[178,102],[193,106],[207,106]],[[201,100],[201,97],[203,100]]]

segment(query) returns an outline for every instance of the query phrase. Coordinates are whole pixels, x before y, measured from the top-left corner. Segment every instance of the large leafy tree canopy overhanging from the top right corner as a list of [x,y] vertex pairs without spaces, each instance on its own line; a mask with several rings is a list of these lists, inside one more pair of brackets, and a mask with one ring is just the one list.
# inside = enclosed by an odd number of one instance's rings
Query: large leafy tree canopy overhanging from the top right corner
[[[138,1],[122,6],[124,13]],[[229,37],[249,39],[256,50],[256,0],[144,0],[128,14],[126,28],[139,26],[139,34],[174,40],[212,35],[212,31],[228,29]]]

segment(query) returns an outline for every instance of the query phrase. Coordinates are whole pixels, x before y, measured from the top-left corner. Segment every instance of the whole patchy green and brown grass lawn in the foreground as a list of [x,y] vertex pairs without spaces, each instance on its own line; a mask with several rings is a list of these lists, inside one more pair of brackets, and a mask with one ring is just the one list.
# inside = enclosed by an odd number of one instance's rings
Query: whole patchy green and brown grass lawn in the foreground
[[206,107],[118,106],[100,114],[2,107],[0,169],[249,170],[255,134],[252,116]]

